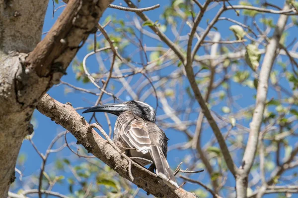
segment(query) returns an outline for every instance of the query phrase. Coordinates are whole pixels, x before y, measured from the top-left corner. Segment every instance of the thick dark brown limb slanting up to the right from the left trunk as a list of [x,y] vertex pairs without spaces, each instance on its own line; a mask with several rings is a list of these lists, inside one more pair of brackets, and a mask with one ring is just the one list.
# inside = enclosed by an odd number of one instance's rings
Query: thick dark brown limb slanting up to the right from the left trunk
[[[39,77],[57,75],[52,82],[59,83],[57,79],[64,74],[89,34],[96,32],[95,25],[111,2],[113,0],[70,0],[47,36],[26,58],[26,67],[34,68]],[[56,72],[60,75],[54,76]]]

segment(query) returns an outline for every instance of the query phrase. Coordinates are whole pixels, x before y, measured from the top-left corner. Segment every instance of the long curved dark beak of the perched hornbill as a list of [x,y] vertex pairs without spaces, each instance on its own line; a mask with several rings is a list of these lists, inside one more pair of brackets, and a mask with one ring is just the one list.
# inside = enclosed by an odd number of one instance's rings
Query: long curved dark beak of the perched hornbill
[[82,113],[89,113],[89,112],[107,112],[107,113],[115,113],[115,112],[123,112],[129,110],[129,107],[126,104],[104,104],[99,106],[94,106],[88,108],[87,110],[83,111]]

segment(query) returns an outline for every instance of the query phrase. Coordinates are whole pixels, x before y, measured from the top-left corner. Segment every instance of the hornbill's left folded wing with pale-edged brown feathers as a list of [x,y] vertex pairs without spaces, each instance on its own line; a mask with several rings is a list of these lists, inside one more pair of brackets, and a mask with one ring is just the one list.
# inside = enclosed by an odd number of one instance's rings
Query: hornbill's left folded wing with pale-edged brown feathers
[[138,119],[130,119],[124,130],[120,131],[122,140],[138,152],[147,153],[150,149],[151,140],[149,137],[146,122]]

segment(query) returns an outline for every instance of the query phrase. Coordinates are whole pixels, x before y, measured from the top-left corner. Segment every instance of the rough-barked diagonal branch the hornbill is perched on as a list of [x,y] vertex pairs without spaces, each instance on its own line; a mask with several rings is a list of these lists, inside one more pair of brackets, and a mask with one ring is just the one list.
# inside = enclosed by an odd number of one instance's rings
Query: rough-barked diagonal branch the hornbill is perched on
[[[123,156],[123,153],[115,150],[93,129],[92,132],[88,132],[88,122],[74,110],[71,103],[62,104],[46,94],[38,102],[37,110],[70,131],[77,139],[77,144],[81,144],[111,169],[130,180],[129,161]],[[197,198],[195,194],[181,188],[175,191],[171,190],[156,174],[137,163],[132,162],[131,170],[134,177],[133,183],[155,197]]]

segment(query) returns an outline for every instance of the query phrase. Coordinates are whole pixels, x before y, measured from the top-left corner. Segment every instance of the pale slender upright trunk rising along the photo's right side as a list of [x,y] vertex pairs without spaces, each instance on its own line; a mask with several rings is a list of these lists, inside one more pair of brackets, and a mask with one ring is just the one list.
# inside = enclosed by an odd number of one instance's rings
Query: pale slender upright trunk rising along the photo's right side
[[[284,10],[289,10],[290,5],[285,4]],[[263,113],[266,106],[268,93],[268,81],[273,63],[276,58],[276,51],[279,48],[279,42],[288,20],[287,15],[281,15],[277,22],[274,34],[266,47],[263,64],[259,75],[257,88],[256,106],[250,123],[250,132],[248,142],[244,151],[242,165],[239,168],[239,176],[236,179],[236,193],[239,198],[246,198],[247,177],[252,167],[256,150],[258,147],[259,131],[263,121]]]

